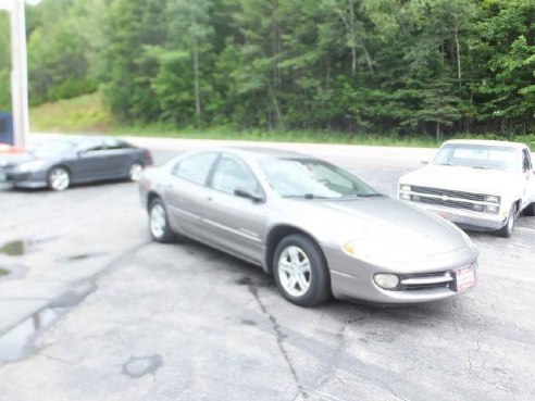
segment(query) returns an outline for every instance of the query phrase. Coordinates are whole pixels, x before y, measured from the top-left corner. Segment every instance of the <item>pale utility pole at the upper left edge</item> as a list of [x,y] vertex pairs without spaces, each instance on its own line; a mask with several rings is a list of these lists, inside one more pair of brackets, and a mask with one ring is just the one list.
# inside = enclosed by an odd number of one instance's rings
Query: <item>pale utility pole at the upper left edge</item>
[[15,145],[24,147],[29,133],[25,2],[24,0],[0,0],[0,10],[10,12],[13,127]]

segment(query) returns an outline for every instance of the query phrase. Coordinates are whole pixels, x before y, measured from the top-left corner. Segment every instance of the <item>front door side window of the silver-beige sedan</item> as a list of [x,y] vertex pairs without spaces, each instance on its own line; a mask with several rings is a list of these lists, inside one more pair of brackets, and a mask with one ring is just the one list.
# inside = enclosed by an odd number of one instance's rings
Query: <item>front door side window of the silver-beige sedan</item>
[[224,155],[213,174],[212,188],[226,193],[234,193],[237,188],[256,193],[259,183],[241,161]]

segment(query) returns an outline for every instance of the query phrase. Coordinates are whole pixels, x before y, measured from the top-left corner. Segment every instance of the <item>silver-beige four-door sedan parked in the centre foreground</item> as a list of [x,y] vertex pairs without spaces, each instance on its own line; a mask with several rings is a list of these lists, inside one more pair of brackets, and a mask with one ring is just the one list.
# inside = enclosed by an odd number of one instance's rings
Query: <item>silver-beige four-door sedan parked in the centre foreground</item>
[[259,265],[298,305],[424,302],[475,285],[478,252],[459,228],[300,153],[190,152],[147,170],[140,195],[154,240],[186,236]]

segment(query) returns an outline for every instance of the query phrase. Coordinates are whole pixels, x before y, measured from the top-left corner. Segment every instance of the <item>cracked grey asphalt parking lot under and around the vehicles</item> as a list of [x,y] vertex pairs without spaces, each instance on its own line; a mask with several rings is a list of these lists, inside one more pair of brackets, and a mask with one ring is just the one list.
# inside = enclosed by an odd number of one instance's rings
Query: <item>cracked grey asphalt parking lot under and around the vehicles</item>
[[[196,147],[174,143],[157,162]],[[300,148],[389,195],[430,154]],[[2,188],[0,205],[2,401],[535,397],[534,217],[470,233],[480,283],[455,299],[301,309],[247,263],[152,242],[135,184]]]

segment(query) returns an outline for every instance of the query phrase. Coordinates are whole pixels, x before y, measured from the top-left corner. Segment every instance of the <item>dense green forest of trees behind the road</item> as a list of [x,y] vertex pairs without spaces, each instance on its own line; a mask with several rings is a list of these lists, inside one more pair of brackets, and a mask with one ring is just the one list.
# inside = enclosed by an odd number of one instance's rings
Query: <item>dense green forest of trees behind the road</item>
[[[534,0],[42,0],[30,103],[101,90],[124,124],[535,131]],[[0,109],[9,108],[0,15]]]

